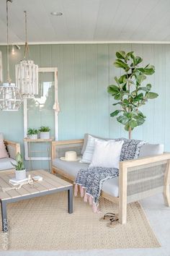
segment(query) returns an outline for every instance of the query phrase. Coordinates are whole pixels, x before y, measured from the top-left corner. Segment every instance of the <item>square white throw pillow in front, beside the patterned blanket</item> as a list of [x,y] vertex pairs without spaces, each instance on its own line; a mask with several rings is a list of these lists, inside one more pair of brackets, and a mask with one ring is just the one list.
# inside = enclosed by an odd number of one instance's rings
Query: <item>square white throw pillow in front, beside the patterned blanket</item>
[[92,166],[100,166],[107,168],[119,168],[120,153],[123,145],[123,140],[95,140],[94,154],[92,157]]

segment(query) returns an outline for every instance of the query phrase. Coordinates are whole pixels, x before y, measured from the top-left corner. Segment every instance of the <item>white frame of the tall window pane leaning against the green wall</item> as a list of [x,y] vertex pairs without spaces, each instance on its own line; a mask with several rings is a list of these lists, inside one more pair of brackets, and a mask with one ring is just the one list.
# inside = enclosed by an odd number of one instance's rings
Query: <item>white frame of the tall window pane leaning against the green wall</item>
[[[58,103],[58,68],[57,67],[39,67],[38,72],[53,72],[54,73],[54,103]],[[24,99],[24,137],[27,137],[27,99]],[[55,140],[58,140],[58,111],[55,111]],[[24,142],[24,158],[26,161],[30,161],[30,156],[28,155],[28,142]],[[31,157],[31,161],[47,161],[50,160],[49,157]]]

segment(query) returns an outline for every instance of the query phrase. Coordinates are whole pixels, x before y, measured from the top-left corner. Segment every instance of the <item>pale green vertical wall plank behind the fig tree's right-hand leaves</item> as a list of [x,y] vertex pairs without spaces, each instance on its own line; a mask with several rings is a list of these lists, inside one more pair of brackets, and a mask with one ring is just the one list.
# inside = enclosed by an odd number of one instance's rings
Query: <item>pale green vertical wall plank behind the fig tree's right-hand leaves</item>
[[[154,65],[153,59],[153,45],[144,44],[143,45],[143,66],[147,64]],[[158,69],[156,69],[158,72]],[[156,92],[154,85],[154,74],[147,76],[147,79],[143,82],[143,85],[151,83],[153,92]],[[146,121],[143,124],[143,140],[146,140],[150,143],[154,141],[154,100],[148,100],[146,105],[143,106],[143,114],[146,116]]]

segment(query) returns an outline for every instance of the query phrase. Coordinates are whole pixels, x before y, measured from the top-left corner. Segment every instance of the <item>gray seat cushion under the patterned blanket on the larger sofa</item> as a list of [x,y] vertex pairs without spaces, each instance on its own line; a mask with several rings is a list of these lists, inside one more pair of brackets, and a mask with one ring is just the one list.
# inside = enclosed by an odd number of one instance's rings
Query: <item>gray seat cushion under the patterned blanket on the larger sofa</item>
[[[63,170],[66,174],[70,174],[76,178],[78,171],[81,168],[89,167],[88,163],[80,163],[79,161],[76,162],[66,162],[62,161],[60,158],[55,158],[53,160],[53,166]],[[102,191],[106,192],[109,195],[113,195],[114,197],[118,197],[119,192],[119,179],[118,177],[113,179],[108,179],[106,182],[103,183]]]

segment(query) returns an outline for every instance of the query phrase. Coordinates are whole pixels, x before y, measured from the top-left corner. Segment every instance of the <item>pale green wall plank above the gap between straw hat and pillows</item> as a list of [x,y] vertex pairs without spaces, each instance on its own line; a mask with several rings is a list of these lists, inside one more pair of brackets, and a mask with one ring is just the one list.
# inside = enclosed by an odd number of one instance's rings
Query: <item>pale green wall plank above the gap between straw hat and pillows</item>
[[86,128],[86,45],[75,45],[75,138],[83,138],[84,133],[88,132]]

